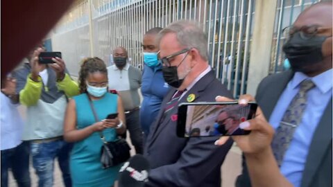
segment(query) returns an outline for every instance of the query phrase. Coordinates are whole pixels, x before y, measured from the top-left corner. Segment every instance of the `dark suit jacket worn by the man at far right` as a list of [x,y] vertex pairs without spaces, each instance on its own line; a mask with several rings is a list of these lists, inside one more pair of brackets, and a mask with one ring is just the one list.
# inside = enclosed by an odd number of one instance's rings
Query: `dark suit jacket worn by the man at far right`
[[[267,120],[271,117],[275,105],[292,77],[293,72],[286,71],[270,75],[260,82],[256,100]],[[244,161],[243,172],[237,178],[236,186],[251,186]],[[301,186],[332,186],[332,98],[314,132]]]

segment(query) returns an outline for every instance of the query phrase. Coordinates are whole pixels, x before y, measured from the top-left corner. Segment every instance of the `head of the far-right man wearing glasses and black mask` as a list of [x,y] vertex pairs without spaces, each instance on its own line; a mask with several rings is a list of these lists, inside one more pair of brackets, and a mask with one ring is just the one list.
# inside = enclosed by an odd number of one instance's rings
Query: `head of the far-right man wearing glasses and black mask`
[[284,44],[291,68],[310,77],[332,69],[332,2],[316,3],[300,13]]

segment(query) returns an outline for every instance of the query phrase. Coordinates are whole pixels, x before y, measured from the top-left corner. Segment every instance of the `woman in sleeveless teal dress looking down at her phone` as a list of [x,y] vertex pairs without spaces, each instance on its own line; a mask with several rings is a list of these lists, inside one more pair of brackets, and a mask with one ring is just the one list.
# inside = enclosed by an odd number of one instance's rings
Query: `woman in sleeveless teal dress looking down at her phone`
[[[87,58],[79,73],[80,92],[69,100],[65,116],[64,138],[75,142],[71,152],[70,169],[73,186],[103,187],[113,186],[121,164],[103,169],[99,132],[107,141],[115,141],[118,134],[126,132],[125,114],[121,98],[108,93],[108,71],[103,60]],[[99,121],[89,105],[92,100]],[[114,119],[105,119],[108,114],[116,114]]]

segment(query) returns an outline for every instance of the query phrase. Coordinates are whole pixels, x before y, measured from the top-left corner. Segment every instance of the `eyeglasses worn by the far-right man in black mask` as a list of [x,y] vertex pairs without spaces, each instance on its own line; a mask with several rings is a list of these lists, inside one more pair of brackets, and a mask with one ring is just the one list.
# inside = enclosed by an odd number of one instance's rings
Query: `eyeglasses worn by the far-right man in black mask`
[[332,28],[323,28],[318,25],[313,26],[302,26],[301,28],[297,28],[295,26],[287,26],[282,30],[282,33],[286,39],[289,39],[293,36],[293,34],[300,32],[300,37],[302,39],[310,39],[311,37],[314,37],[318,33],[326,33],[327,30],[331,30],[332,35]]

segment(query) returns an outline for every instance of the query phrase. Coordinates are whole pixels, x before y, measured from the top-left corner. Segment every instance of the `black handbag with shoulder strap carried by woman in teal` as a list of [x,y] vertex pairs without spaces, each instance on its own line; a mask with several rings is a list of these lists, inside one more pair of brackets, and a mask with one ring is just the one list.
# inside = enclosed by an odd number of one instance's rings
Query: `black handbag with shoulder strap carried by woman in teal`
[[[99,122],[99,118],[96,115],[92,100],[87,94],[90,107],[94,113],[95,121]],[[110,168],[116,166],[119,163],[123,163],[130,158],[130,145],[124,139],[118,139],[117,141],[106,141],[102,132],[99,132],[101,141],[103,142],[101,148],[101,164],[102,168]]]

